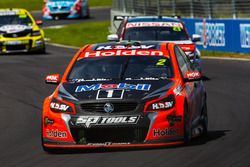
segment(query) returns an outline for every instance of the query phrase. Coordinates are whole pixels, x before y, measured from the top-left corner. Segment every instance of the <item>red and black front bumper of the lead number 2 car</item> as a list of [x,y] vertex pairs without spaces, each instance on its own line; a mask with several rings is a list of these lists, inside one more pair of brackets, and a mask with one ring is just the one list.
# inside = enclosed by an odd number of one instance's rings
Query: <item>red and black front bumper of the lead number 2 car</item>
[[[96,122],[94,124],[92,120],[93,124],[88,127],[86,124],[76,125],[76,118],[79,116],[61,114],[61,119],[53,119],[52,115],[45,116],[44,119],[53,120],[50,121],[53,123],[45,125],[43,121],[43,146],[48,148],[129,148],[181,144],[183,143],[183,122],[178,121],[170,125],[166,119],[168,115],[170,114],[137,115],[139,120],[135,124],[101,125]],[[116,117],[119,116],[116,115]],[[100,120],[100,122],[103,121]]]

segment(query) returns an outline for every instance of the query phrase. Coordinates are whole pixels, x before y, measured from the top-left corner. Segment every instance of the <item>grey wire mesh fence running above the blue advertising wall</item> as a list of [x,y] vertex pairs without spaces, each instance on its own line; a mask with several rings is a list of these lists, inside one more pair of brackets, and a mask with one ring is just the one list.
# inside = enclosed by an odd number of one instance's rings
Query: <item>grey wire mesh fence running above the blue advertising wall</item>
[[113,10],[191,18],[250,18],[250,0],[113,0]]

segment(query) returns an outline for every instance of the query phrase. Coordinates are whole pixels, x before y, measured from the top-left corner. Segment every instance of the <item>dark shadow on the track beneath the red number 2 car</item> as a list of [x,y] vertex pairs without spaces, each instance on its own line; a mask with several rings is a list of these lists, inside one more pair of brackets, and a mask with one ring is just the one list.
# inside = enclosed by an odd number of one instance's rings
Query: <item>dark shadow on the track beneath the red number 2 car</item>
[[204,145],[208,142],[217,140],[223,136],[226,136],[227,132],[231,130],[216,130],[209,131],[206,136],[197,137],[192,139],[187,144],[167,146],[167,147],[145,147],[145,148],[97,148],[97,149],[56,149],[49,154],[89,154],[89,153],[107,153],[107,152],[128,152],[128,151],[144,151],[144,150],[160,150],[160,149],[177,149],[182,147],[193,147],[198,145]]

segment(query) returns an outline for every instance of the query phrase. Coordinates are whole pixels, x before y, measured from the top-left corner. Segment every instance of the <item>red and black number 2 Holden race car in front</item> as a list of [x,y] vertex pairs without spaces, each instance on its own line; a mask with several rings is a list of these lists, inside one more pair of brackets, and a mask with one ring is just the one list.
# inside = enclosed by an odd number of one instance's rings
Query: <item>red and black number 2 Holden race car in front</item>
[[167,146],[207,133],[201,74],[174,43],[86,45],[44,100],[42,146]]

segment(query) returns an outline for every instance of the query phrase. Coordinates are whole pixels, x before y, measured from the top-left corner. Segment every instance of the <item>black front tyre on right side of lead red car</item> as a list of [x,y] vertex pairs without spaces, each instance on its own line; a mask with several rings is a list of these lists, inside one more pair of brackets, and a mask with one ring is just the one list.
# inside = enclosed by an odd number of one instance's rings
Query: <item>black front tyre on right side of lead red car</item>
[[187,103],[184,105],[184,143],[188,143],[192,138],[192,127],[188,113]]

